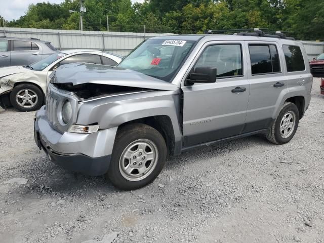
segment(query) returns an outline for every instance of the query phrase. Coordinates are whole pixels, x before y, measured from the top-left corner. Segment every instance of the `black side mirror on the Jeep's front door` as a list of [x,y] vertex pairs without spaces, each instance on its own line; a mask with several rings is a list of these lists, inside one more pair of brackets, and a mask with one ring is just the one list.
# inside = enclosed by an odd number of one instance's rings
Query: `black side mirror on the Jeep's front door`
[[185,86],[194,83],[215,83],[217,75],[216,67],[196,67],[185,82]]

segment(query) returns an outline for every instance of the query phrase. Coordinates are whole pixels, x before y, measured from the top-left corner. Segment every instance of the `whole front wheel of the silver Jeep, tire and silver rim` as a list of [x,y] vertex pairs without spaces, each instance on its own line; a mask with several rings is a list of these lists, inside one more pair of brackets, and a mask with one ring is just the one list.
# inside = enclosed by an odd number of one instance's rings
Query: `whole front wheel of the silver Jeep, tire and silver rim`
[[106,177],[119,189],[134,190],[151,183],[166,159],[166,142],[157,130],[144,124],[126,125],[117,132]]

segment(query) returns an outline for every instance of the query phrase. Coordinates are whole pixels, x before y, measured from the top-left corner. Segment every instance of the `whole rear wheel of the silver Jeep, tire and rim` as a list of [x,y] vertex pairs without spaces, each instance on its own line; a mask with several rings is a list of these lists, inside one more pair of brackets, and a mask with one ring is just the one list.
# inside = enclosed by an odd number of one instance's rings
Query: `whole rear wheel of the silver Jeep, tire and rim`
[[[274,144],[288,143],[294,137],[298,124],[299,111],[297,106],[293,103],[285,102],[266,137]],[[289,129],[290,126],[291,128]]]

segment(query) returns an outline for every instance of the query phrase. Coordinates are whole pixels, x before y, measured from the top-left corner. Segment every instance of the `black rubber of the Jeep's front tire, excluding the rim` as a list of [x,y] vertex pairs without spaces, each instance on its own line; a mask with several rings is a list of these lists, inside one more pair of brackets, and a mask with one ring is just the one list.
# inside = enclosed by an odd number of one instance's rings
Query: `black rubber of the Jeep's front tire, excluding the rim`
[[[124,128],[117,135],[113,146],[108,177],[114,186],[123,190],[134,190],[151,183],[163,169],[167,158],[167,146],[163,136],[154,128],[147,125],[133,125]],[[124,178],[119,171],[119,158],[124,149],[138,139],[148,139],[152,141],[158,150],[157,164],[150,175],[141,181],[129,181]]]

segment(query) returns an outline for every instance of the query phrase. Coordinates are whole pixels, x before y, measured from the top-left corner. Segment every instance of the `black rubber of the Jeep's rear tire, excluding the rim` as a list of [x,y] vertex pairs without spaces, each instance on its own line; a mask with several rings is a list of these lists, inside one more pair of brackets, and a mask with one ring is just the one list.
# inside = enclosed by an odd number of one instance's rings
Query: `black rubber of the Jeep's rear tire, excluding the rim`
[[[280,123],[281,123],[281,119],[282,117],[288,112],[288,111],[292,111],[295,113],[296,116],[296,122],[295,122],[295,128],[293,133],[288,137],[288,138],[282,138],[280,135]],[[275,131],[274,131],[274,136],[275,136],[275,140],[277,141],[278,144],[285,144],[288,143],[290,140],[292,140],[292,138],[295,136],[295,133],[297,131],[299,125],[299,111],[298,108],[295,104],[290,103],[287,106],[285,106],[280,112],[279,115],[276,119],[276,123],[275,123]]]

